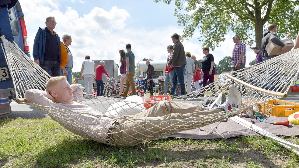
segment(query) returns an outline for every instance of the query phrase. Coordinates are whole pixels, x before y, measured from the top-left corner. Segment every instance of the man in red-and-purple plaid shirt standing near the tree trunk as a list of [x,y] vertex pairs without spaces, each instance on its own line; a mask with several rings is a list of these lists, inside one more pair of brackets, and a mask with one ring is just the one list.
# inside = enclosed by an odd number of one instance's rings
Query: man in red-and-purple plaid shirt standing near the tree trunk
[[235,47],[232,54],[231,71],[243,71],[246,63],[246,46],[244,43],[240,42],[240,37],[238,35],[233,37],[233,42],[235,43]]

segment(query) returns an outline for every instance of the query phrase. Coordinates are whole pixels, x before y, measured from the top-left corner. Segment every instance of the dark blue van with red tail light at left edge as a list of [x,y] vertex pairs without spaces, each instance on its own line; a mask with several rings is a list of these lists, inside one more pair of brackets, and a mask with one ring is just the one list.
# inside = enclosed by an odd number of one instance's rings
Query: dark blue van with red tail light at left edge
[[[13,40],[30,57],[24,13],[18,0],[0,0],[0,36],[2,35]],[[2,47],[0,47],[0,89],[5,89],[9,99],[15,98],[12,78]]]

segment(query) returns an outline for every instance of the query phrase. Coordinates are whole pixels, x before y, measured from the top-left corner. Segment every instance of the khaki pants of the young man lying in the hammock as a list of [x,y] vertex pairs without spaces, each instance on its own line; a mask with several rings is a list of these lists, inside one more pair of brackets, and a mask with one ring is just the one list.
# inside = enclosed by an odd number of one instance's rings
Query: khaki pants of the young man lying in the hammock
[[[118,146],[132,146],[143,139],[155,139],[178,130],[197,128],[203,121],[194,117],[224,111],[221,107],[204,111],[203,106],[174,101],[159,101],[148,110],[118,119],[112,128],[109,142]],[[130,120],[130,118],[151,120]],[[180,120],[181,119],[181,120]]]

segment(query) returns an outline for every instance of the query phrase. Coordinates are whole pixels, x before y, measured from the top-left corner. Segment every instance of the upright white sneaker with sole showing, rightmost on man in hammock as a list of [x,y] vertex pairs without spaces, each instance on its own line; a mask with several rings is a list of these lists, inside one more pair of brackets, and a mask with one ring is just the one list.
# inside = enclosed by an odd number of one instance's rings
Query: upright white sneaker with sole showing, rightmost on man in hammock
[[226,101],[221,104],[219,107],[223,108],[225,111],[235,109],[241,106],[242,103],[242,94],[239,91],[238,87],[231,85],[228,89],[228,97]]

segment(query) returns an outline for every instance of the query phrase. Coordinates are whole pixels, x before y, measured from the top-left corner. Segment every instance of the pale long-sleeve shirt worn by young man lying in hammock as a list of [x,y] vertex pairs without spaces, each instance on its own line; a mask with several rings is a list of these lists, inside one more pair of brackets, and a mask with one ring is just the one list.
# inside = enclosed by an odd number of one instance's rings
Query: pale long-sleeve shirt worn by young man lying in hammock
[[[83,91],[81,84],[74,84],[74,88],[74,99],[71,101],[71,104],[55,103],[44,96],[42,91],[37,89],[27,90],[25,93],[25,98],[28,103],[71,110],[71,112],[65,112],[61,110],[59,111],[59,114],[57,114],[57,116],[64,117],[65,120],[68,121],[68,124],[70,124],[71,128],[65,127],[66,129],[75,134],[84,134],[85,136],[88,136],[89,138],[98,142],[106,142],[108,129],[113,122],[115,122],[115,120],[103,116],[98,117],[99,115],[103,114],[82,103]],[[85,114],[78,114],[72,111],[78,111],[79,113]],[[52,116],[50,117],[53,118]],[[76,129],[76,127],[78,129]]]

